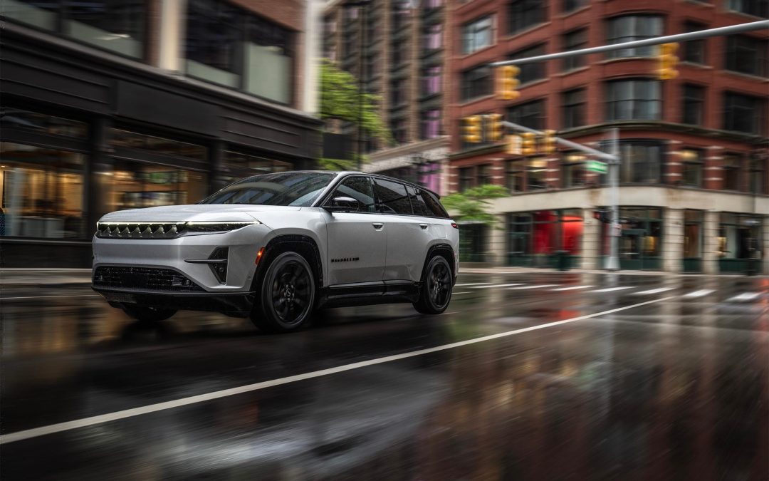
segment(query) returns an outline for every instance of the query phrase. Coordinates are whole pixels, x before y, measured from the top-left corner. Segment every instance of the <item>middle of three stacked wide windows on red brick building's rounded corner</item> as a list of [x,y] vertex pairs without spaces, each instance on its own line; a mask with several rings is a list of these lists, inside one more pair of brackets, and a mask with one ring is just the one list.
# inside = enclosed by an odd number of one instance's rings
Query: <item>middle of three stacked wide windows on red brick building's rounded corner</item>
[[656,80],[614,80],[607,84],[607,120],[657,120],[661,112]]

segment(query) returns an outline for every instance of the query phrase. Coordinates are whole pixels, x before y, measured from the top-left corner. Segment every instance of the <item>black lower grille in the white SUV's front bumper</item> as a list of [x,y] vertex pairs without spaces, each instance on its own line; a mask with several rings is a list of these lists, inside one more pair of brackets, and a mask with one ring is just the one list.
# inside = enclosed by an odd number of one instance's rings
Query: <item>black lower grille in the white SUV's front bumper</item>
[[93,285],[148,291],[199,292],[204,290],[184,274],[155,267],[100,266],[94,272]]

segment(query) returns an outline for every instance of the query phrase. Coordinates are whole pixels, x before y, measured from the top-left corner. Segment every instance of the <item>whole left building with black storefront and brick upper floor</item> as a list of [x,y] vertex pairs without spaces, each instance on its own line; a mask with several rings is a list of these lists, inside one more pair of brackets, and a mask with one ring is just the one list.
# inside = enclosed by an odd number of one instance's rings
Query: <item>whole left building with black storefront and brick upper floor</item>
[[2,265],[89,266],[105,212],[315,165],[315,5],[3,0]]

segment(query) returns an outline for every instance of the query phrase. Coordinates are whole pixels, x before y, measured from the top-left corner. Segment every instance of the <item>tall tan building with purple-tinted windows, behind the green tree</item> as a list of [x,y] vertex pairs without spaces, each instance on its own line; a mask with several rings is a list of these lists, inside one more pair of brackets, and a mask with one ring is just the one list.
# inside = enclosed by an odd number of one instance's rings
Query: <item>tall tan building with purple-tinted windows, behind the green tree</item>
[[[328,2],[323,18],[324,57],[381,97],[391,132],[393,145],[365,139],[363,169],[438,193],[446,188],[449,147],[448,16],[444,0],[339,0]],[[336,129],[351,137],[358,130],[352,123]]]

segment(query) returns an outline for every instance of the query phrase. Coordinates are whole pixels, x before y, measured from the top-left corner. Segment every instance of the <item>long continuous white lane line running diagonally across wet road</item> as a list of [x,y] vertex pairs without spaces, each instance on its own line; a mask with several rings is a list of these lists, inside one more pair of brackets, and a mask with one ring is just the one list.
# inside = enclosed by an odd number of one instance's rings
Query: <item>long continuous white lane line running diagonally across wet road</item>
[[651,301],[638,302],[632,306],[618,307],[609,309],[608,311],[595,312],[593,314],[585,314],[584,316],[572,317],[571,319],[564,319],[561,321],[546,322],[538,326],[524,327],[522,329],[514,329],[512,331],[498,332],[497,334],[491,334],[489,336],[477,337],[475,339],[468,339],[465,341],[451,342],[451,344],[444,344],[443,346],[431,347],[428,349],[419,349],[417,351],[403,352],[401,354],[394,354],[393,356],[385,356],[378,359],[368,359],[361,362],[353,362],[345,366],[332,367],[329,369],[321,369],[319,371],[305,372],[304,374],[297,374],[295,376],[288,376],[280,379],[271,379],[269,381],[256,382],[255,384],[247,384],[245,386],[238,386],[230,389],[222,389],[221,391],[208,392],[206,394],[198,394],[198,396],[190,396],[181,399],[175,399],[173,401],[166,401],[165,403],[150,404],[148,406],[141,406],[138,408],[125,409],[122,411],[115,411],[115,413],[100,414],[98,416],[91,416],[82,419],[75,419],[73,421],[65,421],[64,423],[51,424],[49,426],[40,426],[38,428],[25,429],[24,431],[16,431],[15,433],[7,433],[0,436],[0,444],[15,443],[22,439],[31,439],[38,436],[45,436],[47,434],[61,433],[62,431],[69,431],[71,429],[78,429],[85,426],[94,426],[95,424],[109,423],[111,421],[117,421],[118,419],[125,419],[134,416],[141,416],[149,413],[157,413],[165,409],[172,409],[181,406],[189,406],[191,404],[204,403],[205,401],[211,401],[212,399],[220,399],[227,396],[235,396],[236,394],[243,394],[244,392],[256,391],[258,389],[266,389],[268,387],[281,386],[290,382],[305,381],[306,379],[313,379],[321,376],[329,376],[331,374],[338,374],[339,372],[351,371],[353,369],[361,369],[368,366],[375,366],[377,364],[384,364],[384,362],[399,361],[401,359],[408,359],[415,356],[422,356],[424,354],[430,354],[431,352],[444,351],[446,349],[454,349],[461,346],[469,346],[478,342],[491,341],[492,339],[499,339],[502,337],[515,336],[517,334],[523,334],[524,332],[537,331],[539,329],[546,329],[553,326],[561,326],[568,324],[569,322],[582,321],[584,319],[592,319],[598,316],[606,316],[613,314],[614,312],[626,311],[628,309],[634,309],[636,307],[648,306],[655,302],[663,302],[670,297],[663,297],[661,299],[652,299]]

